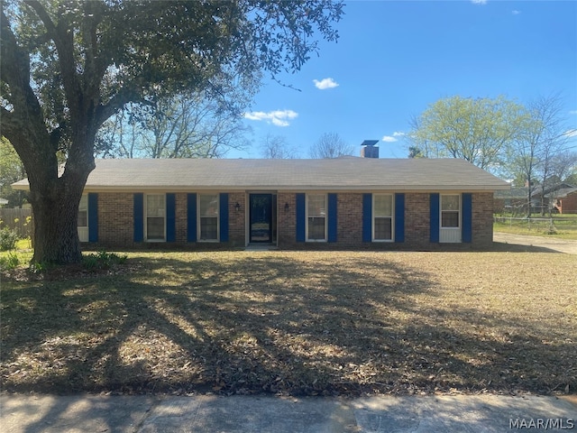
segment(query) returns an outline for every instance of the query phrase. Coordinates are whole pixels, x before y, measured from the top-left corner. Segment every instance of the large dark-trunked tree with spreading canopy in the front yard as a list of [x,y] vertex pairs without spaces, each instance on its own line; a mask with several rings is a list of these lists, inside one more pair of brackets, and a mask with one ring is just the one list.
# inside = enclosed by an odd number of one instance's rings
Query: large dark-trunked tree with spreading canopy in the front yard
[[[130,102],[297,71],[337,39],[343,4],[1,0],[0,134],[28,173],[32,261],[78,263],[78,204],[102,124]],[[215,79],[216,78],[216,79]],[[232,78],[232,77],[231,77]],[[66,164],[59,176],[58,152]]]

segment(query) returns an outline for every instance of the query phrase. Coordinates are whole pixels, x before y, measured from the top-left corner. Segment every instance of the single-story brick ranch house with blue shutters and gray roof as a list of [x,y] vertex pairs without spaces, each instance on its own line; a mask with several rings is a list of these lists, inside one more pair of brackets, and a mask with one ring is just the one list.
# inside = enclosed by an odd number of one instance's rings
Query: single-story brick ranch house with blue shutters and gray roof
[[456,159],[97,160],[78,235],[105,247],[487,248],[493,192],[508,188]]

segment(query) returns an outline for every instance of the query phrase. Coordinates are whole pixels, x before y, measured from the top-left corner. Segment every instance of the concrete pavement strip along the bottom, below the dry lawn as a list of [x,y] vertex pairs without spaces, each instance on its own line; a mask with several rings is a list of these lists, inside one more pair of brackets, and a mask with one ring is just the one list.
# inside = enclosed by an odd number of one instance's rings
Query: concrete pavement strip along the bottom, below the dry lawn
[[0,431],[577,432],[577,396],[77,396],[0,394]]

